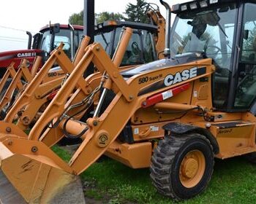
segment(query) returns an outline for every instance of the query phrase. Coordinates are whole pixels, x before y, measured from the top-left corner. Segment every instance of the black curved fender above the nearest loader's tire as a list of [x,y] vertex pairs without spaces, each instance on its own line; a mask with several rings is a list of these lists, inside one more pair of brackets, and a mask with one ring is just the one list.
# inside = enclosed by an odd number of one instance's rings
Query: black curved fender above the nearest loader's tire
[[180,122],[170,122],[164,125],[162,128],[165,130],[165,136],[168,135],[167,131],[177,135],[182,135],[184,133],[200,133],[201,135],[206,136],[206,138],[208,138],[208,140],[211,142],[214,149],[214,154],[219,153],[219,145],[217,139],[211,134],[210,131],[205,128],[195,125],[187,125]]

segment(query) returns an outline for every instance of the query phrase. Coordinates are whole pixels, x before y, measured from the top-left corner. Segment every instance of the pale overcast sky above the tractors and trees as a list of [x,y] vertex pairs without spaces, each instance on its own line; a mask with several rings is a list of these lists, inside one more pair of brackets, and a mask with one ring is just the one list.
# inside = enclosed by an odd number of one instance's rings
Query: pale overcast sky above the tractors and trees
[[[147,0],[159,4],[157,0]],[[170,5],[185,0],[166,0]],[[0,1],[0,52],[26,49],[28,36],[25,31],[37,33],[42,26],[51,23],[67,24],[69,16],[83,9],[83,0],[2,0]],[[95,0],[95,12],[123,13],[128,3],[136,0]],[[162,15],[165,8],[159,4]]]

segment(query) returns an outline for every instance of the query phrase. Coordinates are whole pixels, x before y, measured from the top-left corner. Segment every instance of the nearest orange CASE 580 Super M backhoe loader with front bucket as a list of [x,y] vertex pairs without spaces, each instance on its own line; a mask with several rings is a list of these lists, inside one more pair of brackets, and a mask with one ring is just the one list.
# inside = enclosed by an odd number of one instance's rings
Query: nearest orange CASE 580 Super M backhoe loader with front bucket
[[[178,200],[206,189],[214,157],[246,154],[255,162],[256,4],[176,4],[170,30],[170,7],[161,3],[169,11],[165,59],[119,72],[104,48],[91,44],[29,138],[1,130],[1,177],[19,200],[72,202],[77,175],[102,154],[131,168],[149,167],[157,190]],[[67,114],[67,101],[89,63],[102,74],[102,94],[94,116],[79,121]],[[89,106],[93,96],[83,103]],[[83,139],[68,164],[49,149],[64,135]]]

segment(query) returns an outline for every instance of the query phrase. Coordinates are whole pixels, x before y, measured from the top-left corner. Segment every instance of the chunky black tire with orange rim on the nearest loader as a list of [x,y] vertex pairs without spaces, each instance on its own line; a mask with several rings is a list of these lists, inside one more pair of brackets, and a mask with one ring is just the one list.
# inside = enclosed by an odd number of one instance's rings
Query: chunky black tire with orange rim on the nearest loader
[[157,190],[177,200],[203,192],[214,170],[214,152],[200,134],[165,136],[154,149],[151,179]]

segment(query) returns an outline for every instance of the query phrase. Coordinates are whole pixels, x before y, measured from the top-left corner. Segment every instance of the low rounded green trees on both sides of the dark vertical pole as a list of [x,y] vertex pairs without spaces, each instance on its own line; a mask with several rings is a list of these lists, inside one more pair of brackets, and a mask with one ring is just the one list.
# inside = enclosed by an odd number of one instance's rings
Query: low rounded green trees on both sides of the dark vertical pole
[[[124,20],[124,16],[114,12],[100,12],[99,14],[95,14],[95,20],[97,23],[102,23],[105,20]],[[69,23],[83,26],[83,11],[69,16]]]

